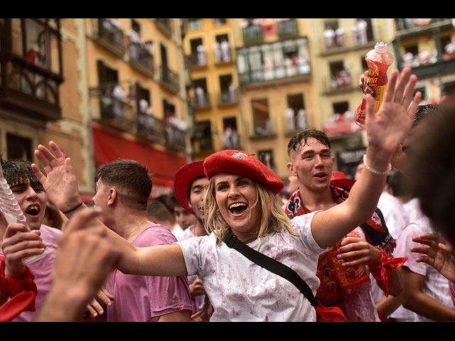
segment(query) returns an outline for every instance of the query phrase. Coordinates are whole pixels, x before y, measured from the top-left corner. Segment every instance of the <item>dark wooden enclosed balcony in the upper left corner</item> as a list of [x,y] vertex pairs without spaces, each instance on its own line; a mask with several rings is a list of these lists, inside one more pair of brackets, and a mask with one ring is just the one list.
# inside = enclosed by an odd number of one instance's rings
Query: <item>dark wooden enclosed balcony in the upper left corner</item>
[[[61,119],[59,86],[63,77],[58,19],[6,18],[0,35],[1,116],[36,126]],[[34,45],[37,36],[40,40]]]

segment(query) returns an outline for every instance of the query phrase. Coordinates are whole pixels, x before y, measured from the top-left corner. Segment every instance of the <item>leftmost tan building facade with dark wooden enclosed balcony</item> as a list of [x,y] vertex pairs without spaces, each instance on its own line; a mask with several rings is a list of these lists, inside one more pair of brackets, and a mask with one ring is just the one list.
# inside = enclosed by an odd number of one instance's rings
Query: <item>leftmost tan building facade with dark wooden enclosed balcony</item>
[[0,151],[37,162],[38,144],[70,156],[82,192],[92,188],[85,38],[73,19],[0,19]]

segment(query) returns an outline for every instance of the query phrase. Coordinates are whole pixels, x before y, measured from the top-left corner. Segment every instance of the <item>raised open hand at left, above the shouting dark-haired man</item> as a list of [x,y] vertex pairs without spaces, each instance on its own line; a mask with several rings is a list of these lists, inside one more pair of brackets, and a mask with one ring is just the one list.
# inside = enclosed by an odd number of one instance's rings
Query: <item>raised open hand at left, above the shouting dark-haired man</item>
[[35,156],[45,171],[41,172],[36,164],[32,164],[33,173],[43,184],[46,194],[60,211],[66,212],[81,202],[77,178],[70,158],[66,158],[55,142],[49,142],[49,151],[39,145]]

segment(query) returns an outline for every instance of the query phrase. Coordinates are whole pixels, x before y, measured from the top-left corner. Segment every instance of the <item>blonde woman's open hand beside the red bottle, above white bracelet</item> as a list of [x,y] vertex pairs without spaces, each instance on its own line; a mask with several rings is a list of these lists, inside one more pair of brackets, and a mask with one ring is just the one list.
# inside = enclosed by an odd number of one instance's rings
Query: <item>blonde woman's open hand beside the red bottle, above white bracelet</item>
[[385,88],[380,109],[375,113],[375,100],[370,94],[367,101],[366,131],[368,146],[374,148],[379,158],[390,161],[393,153],[411,129],[412,118],[422,94],[414,95],[417,77],[405,67],[398,80],[398,70],[393,70]]

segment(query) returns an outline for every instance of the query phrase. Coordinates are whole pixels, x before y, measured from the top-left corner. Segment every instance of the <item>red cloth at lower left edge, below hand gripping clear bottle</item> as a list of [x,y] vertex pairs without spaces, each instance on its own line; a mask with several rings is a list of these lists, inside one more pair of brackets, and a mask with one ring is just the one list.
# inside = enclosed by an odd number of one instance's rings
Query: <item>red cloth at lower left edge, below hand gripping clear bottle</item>
[[35,311],[36,283],[28,266],[20,279],[5,276],[4,256],[0,256],[0,290],[11,298],[0,306],[0,321],[9,322],[24,310]]

